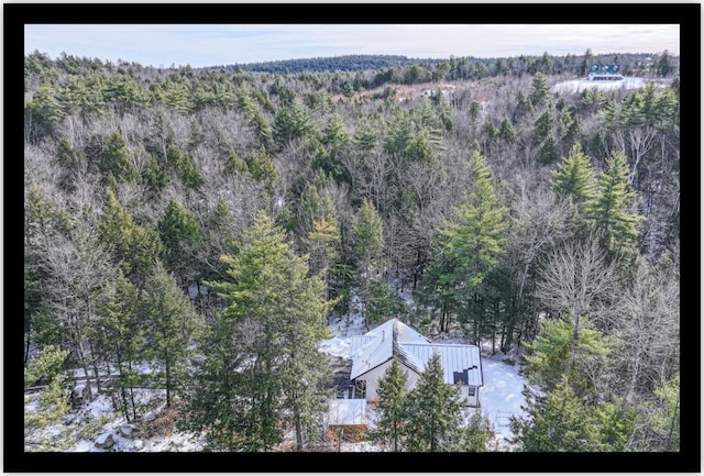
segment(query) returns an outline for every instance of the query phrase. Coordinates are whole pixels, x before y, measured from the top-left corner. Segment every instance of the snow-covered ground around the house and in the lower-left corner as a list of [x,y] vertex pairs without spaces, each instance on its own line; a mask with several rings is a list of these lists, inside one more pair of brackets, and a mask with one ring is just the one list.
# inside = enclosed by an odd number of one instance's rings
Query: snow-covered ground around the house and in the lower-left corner
[[[408,306],[413,306],[413,297],[406,292],[404,300]],[[320,351],[343,358],[350,357],[350,337],[361,335],[366,332],[361,312],[359,312],[359,300],[352,300],[352,310],[342,318],[337,318],[330,323],[329,329],[334,337],[322,341]],[[455,342],[461,340],[454,339]],[[442,342],[449,342],[443,340]],[[486,352],[484,354],[488,355]],[[521,413],[520,406],[524,405],[521,389],[524,378],[518,374],[517,366],[502,362],[497,357],[486,357],[482,359],[484,373],[484,387],[480,391],[482,402],[481,411],[488,418],[494,431],[496,441],[503,451],[510,451],[508,440],[512,439],[508,428],[508,417]],[[140,372],[151,372],[153,368],[143,366]],[[76,372],[76,376],[80,372]],[[94,396],[96,389],[94,388]],[[138,405],[143,406],[144,420],[148,416],[160,416],[164,420],[161,411],[164,408],[163,390],[141,389],[138,391]],[[36,408],[35,396],[25,398],[25,412],[33,412]],[[369,409],[369,407],[367,407]],[[373,422],[374,413],[370,409],[367,421]],[[36,429],[25,429],[25,451],[59,451],[59,452],[200,452],[205,447],[205,440],[199,435],[180,432],[167,421],[158,421],[154,424],[144,423],[142,432],[138,432],[130,438],[124,435],[124,418],[116,413],[110,398],[105,395],[97,395],[91,401],[77,411],[67,414],[67,418],[56,424],[45,425]],[[101,438],[110,438],[113,444],[110,449],[101,449],[96,445]],[[342,443],[342,452],[374,452],[378,451],[370,443]]]

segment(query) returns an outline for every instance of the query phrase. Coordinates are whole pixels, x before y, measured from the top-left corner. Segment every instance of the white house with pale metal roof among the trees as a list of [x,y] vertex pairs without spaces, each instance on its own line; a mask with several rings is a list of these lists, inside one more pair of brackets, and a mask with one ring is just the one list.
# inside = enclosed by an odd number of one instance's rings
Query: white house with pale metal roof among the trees
[[466,397],[468,405],[479,407],[480,387],[484,385],[479,346],[435,344],[398,319],[392,319],[364,335],[351,337],[353,397],[376,400],[378,379],[394,357],[407,372],[408,385],[414,388],[435,352],[440,355],[444,381],[452,385],[461,383],[462,397]]

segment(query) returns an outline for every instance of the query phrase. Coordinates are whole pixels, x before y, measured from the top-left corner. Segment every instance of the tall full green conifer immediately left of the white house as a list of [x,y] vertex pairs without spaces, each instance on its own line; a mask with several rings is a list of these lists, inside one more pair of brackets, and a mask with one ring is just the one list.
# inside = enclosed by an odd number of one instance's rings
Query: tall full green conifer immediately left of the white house
[[[232,332],[246,332],[237,343],[239,354],[246,356],[235,384],[240,398],[222,409],[228,414],[220,413],[218,421],[204,413],[211,412],[209,408],[193,411],[208,422],[202,427],[211,435],[229,429],[230,449],[250,451],[271,451],[280,443],[287,418],[297,449],[302,450],[319,436],[328,394],[330,370],[318,352],[319,341],[328,336],[323,283],[319,276],[308,277],[307,257],[293,252],[284,231],[264,212],[246,232],[239,253],[222,261],[231,280],[209,285],[230,303],[223,322]],[[227,391],[215,387],[212,391]]]

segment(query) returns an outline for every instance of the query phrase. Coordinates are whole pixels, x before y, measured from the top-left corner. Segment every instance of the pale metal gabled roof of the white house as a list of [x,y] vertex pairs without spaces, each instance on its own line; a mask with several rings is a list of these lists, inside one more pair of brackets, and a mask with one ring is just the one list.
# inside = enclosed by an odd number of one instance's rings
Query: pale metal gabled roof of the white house
[[440,354],[444,380],[482,386],[482,359],[476,345],[433,344],[398,319],[392,319],[350,342],[352,372],[350,379],[384,364],[396,356],[406,367],[422,373],[433,352]]

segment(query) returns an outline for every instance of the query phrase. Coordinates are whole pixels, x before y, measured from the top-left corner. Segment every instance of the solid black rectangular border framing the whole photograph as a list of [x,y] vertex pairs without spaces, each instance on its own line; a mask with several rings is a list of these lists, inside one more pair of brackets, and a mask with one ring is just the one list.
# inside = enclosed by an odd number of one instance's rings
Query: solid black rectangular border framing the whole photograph
[[[700,217],[701,16],[700,3],[3,3],[4,160],[3,219],[6,257],[23,248],[22,212],[12,199],[23,151],[22,90],[24,24],[28,23],[675,23],[681,29],[682,203]],[[471,52],[468,52],[471,55]],[[129,58],[128,58],[129,59]],[[686,99],[685,99],[686,98]],[[15,115],[16,114],[16,115]],[[698,140],[696,137],[700,137]],[[20,167],[18,167],[20,168]],[[692,180],[696,180],[692,184]],[[16,221],[16,225],[15,225]],[[685,263],[700,263],[700,222],[682,220]],[[16,228],[15,228],[16,226]],[[694,244],[693,244],[694,242]],[[15,262],[10,262],[14,264]],[[19,262],[18,262],[19,263]],[[692,273],[693,265],[683,270]],[[14,266],[9,266],[13,269]],[[18,266],[19,268],[19,266]],[[3,268],[4,270],[4,268]],[[695,270],[696,272],[696,270]],[[701,273],[701,270],[700,270]],[[698,284],[698,276],[695,280]],[[100,473],[698,473],[701,472],[701,322],[696,312],[682,319],[680,453],[24,453],[22,341],[11,298],[23,294],[14,273],[4,275],[3,472]],[[692,279],[690,277],[690,279]],[[688,281],[690,280],[688,279]],[[688,287],[692,289],[692,287]],[[692,291],[690,291],[692,292]],[[696,291],[695,291],[696,292]],[[700,352],[696,352],[700,350]]]

